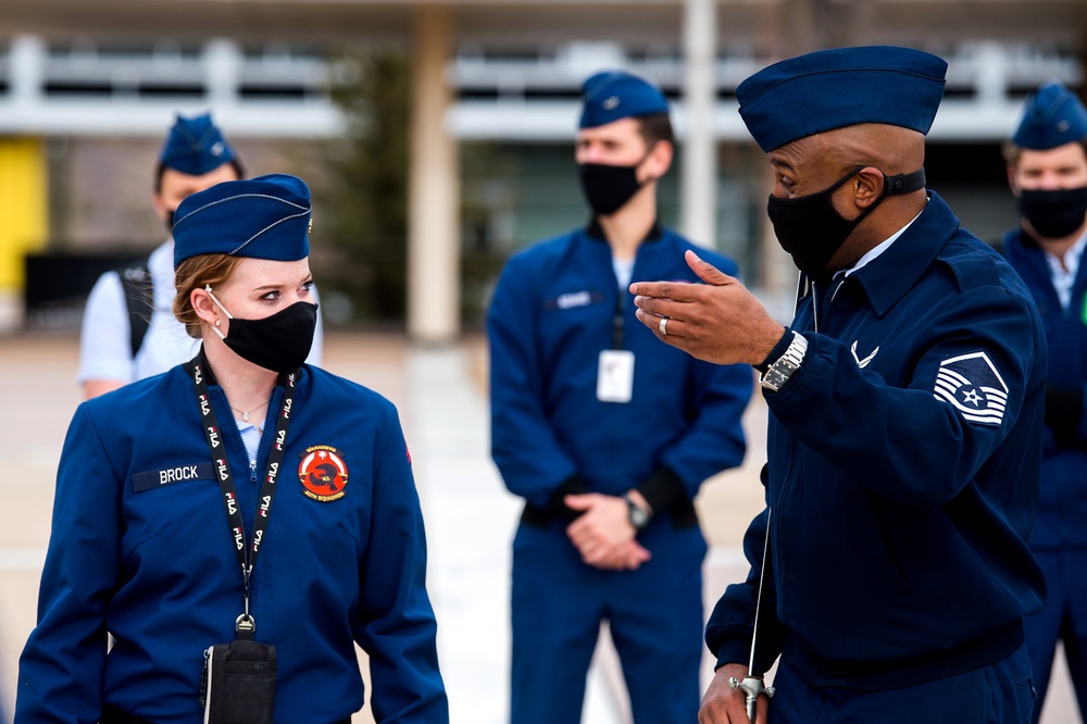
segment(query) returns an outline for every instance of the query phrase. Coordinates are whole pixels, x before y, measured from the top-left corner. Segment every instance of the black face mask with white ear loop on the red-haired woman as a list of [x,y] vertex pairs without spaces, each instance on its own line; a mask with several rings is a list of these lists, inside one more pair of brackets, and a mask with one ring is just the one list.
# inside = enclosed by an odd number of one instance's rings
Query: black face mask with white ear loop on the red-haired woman
[[302,366],[313,346],[313,332],[317,326],[317,305],[298,301],[261,320],[242,320],[233,316],[205,287],[218,308],[230,319],[230,334],[223,336],[213,327],[226,346],[243,360],[259,367],[289,374]]

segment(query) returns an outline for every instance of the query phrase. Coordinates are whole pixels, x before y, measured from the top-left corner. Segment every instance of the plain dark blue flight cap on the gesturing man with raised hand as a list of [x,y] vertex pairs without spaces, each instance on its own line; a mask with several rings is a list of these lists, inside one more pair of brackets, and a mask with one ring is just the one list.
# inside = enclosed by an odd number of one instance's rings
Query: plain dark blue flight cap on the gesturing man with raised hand
[[927,134],[944,97],[948,64],[912,48],[836,48],[790,58],[736,88],[740,116],[759,147],[859,123]]

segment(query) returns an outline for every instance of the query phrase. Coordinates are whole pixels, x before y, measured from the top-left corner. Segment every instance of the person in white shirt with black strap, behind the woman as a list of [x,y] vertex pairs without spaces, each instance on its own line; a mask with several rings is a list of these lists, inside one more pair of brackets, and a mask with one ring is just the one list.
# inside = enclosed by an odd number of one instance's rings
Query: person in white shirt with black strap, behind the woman
[[[243,176],[241,162],[210,114],[178,115],[159,154],[151,202],[168,234],[186,197]],[[99,277],[79,338],[76,379],[86,399],[192,359],[200,340],[174,319],[174,294],[172,238],[150,255]],[[321,363],[322,333],[318,317],[307,362]]]

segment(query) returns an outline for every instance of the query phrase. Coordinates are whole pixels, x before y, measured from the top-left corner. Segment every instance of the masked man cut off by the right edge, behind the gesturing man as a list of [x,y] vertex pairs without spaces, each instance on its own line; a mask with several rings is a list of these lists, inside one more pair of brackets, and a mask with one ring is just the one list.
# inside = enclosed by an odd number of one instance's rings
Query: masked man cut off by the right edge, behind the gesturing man
[[1021,215],[1004,255],[1030,289],[1049,342],[1041,503],[1030,534],[1049,598],[1023,621],[1037,722],[1058,641],[1087,711],[1087,110],[1059,83],[1042,86],[1004,159]]

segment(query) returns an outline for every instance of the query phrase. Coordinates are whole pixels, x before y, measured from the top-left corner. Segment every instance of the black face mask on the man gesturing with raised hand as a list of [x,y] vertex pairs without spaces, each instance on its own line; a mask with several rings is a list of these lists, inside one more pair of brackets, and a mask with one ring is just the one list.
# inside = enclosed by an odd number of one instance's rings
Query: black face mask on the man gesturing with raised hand
[[826,267],[849,235],[864,217],[875,211],[884,199],[925,187],[925,170],[911,174],[884,177],[884,192],[872,205],[853,220],[842,217],[834,208],[830,196],[842,184],[861,172],[857,166],[829,188],[796,199],[779,199],[771,195],[766,213],[774,225],[778,244],[791,257],[792,263],[816,283],[827,280]]

